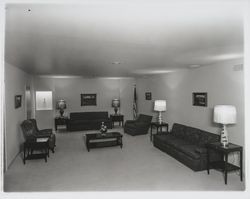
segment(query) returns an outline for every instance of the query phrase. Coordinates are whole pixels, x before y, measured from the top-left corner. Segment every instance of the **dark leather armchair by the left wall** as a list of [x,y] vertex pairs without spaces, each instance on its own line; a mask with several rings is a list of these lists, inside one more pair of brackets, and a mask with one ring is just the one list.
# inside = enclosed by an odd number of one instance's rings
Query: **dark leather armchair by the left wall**
[[26,141],[36,141],[37,138],[49,138],[49,149],[54,153],[56,136],[52,129],[39,130],[35,119],[24,120],[21,124]]

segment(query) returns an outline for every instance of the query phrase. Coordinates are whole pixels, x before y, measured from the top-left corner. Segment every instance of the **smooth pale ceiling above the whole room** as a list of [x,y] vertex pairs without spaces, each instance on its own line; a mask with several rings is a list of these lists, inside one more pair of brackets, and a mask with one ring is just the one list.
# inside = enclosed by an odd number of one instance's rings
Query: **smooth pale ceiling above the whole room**
[[241,1],[93,2],[7,5],[6,61],[37,75],[128,77],[243,56]]

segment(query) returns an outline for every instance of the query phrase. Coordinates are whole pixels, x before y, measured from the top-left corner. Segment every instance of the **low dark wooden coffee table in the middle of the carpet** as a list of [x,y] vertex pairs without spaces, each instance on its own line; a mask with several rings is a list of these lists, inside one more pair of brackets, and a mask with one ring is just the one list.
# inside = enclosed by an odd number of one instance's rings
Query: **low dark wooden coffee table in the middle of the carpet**
[[122,148],[122,134],[110,132],[102,135],[101,133],[86,134],[86,147],[90,148],[120,146]]

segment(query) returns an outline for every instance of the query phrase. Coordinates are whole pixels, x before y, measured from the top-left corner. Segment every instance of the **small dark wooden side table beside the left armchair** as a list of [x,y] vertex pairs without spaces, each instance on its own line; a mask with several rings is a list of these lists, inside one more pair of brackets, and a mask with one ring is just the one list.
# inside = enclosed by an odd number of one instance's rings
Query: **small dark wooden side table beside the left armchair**
[[45,162],[47,162],[47,156],[49,156],[49,138],[37,138],[35,141],[24,142],[24,147],[23,147],[24,164],[26,160],[40,159],[40,158],[45,159]]

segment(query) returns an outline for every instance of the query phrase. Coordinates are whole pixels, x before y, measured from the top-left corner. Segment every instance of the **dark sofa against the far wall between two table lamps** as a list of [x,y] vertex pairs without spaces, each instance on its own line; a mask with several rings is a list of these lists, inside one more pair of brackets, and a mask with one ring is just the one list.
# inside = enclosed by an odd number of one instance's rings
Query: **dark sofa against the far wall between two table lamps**
[[112,128],[108,112],[74,112],[70,113],[67,129],[69,131],[97,130],[101,128],[102,122],[107,128]]

